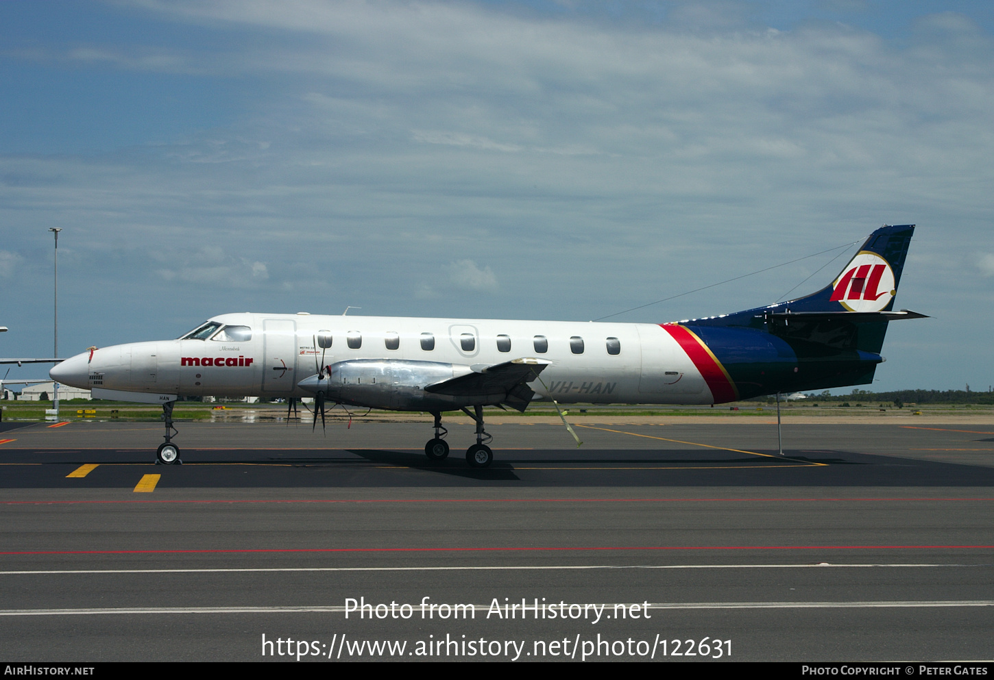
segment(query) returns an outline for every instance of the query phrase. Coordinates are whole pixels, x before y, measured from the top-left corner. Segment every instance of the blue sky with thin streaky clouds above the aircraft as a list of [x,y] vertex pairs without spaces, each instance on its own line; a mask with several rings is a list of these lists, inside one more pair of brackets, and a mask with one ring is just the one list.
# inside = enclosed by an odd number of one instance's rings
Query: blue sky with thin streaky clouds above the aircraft
[[69,356],[229,312],[588,321],[773,267],[612,320],[710,316],[914,223],[896,306],[932,318],[870,389],[985,391],[991,111],[982,1],[4,2],[0,355],[54,348],[50,227]]

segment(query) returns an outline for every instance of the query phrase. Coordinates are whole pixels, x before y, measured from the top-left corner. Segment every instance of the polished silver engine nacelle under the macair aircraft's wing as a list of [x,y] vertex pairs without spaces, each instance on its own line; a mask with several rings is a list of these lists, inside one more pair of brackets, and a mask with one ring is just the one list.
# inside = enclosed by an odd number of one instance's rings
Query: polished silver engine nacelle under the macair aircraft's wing
[[[329,366],[323,379],[312,375],[298,384],[325,399],[388,410],[446,411],[478,403],[463,396],[433,394],[426,385],[472,372],[467,365],[406,359],[352,359]],[[498,400],[503,395],[495,395]]]

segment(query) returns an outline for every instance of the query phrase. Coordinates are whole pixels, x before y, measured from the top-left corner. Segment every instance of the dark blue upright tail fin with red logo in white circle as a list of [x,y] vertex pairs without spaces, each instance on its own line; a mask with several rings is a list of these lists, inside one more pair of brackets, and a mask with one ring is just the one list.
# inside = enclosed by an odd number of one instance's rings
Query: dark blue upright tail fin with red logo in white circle
[[777,307],[791,312],[890,312],[913,233],[913,224],[882,226],[831,284]]

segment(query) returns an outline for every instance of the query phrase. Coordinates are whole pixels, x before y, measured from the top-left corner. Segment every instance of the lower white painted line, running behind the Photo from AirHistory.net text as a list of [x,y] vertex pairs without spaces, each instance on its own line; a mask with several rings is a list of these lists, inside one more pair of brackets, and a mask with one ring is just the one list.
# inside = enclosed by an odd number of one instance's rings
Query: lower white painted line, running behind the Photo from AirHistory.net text
[[[621,606],[621,603],[618,603]],[[614,607],[614,603],[597,604],[597,607]],[[489,605],[474,605],[486,612]],[[765,602],[765,603],[658,603],[649,610],[842,610],[842,609],[894,609],[894,608],[961,608],[994,607],[994,600],[897,600],[877,602]],[[315,605],[313,607],[106,607],[60,610],[0,610],[0,616],[76,616],[92,614],[148,614],[148,613],[344,613],[341,605]]]

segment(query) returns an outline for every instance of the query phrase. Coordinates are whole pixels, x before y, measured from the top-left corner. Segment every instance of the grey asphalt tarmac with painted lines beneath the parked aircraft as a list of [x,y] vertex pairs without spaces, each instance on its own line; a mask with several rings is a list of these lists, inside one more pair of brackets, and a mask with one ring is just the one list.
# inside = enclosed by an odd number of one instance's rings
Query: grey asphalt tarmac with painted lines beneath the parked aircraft
[[5,424],[0,658],[994,657],[994,427],[577,424]]

